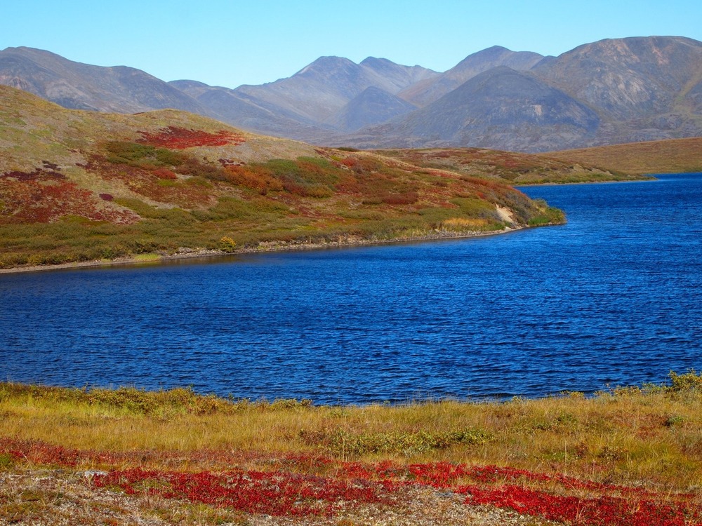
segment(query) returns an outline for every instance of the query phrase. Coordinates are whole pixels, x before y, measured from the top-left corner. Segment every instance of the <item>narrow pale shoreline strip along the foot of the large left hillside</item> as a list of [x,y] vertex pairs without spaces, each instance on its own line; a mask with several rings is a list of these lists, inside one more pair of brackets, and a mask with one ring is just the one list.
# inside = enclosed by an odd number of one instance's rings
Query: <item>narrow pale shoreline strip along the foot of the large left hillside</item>
[[[548,226],[548,225],[543,225]],[[555,226],[555,225],[553,225]],[[501,234],[510,234],[511,232],[536,228],[536,227],[507,227],[504,230],[488,231],[488,232],[456,232],[455,234],[449,231],[437,231],[435,234],[425,234],[424,236],[406,236],[392,239],[372,239],[372,238],[353,238],[349,236],[345,240],[329,241],[325,243],[286,243],[279,241],[264,241],[259,243],[255,248],[241,248],[232,252],[223,252],[223,250],[213,249],[185,249],[183,252],[175,254],[153,254],[153,258],[143,258],[138,256],[117,257],[116,259],[95,259],[85,262],[68,262],[51,265],[27,265],[25,267],[13,267],[11,269],[0,269],[0,274],[24,274],[27,272],[42,272],[55,270],[72,270],[72,269],[95,269],[100,267],[117,267],[121,265],[151,265],[163,264],[166,262],[175,262],[186,259],[205,259],[216,258],[234,255],[246,254],[265,254],[269,252],[291,252],[303,250],[324,250],[329,248],[353,248],[372,245],[391,245],[395,243],[416,243],[421,241],[449,241],[451,239],[469,239],[486,236],[499,236]],[[180,250],[180,249],[179,249]],[[150,254],[151,255],[151,254]]]

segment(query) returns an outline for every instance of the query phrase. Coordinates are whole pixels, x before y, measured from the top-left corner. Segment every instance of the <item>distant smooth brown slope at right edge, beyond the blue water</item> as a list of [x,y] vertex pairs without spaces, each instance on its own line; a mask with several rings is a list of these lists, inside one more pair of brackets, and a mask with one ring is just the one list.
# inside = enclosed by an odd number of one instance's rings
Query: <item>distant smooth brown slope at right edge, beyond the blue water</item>
[[543,154],[543,159],[547,158],[607,166],[628,173],[702,172],[702,137],[552,151]]

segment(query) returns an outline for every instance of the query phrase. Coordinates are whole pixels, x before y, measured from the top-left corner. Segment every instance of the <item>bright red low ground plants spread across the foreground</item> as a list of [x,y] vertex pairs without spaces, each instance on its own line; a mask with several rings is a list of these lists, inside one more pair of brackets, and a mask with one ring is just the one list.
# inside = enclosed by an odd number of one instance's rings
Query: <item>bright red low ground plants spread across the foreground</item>
[[[145,452],[109,453],[69,450],[41,442],[0,438],[0,454],[15,462],[66,466],[138,463]],[[168,464],[168,453],[152,459]],[[175,454],[172,454],[175,459]],[[180,456],[182,457],[182,453]],[[143,468],[113,469],[93,478],[98,487],[126,494],[157,494],[166,499],[268,515],[333,515],[341,507],[361,504],[392,506],[406,487],[433,487],[465,495],[466,506],[496,506],[523,515],[578,526],[700,526],[699,497],[659,493],[639,487],[597,483],[559,473],[498,466],[468,466],[448,462],[401,466],[340,462],[326,457],[295,455],[267,459],[270,471],[232,468],[255,460],[255,454],[194,452],[191,460],[228,464],[222,471],[169,471]],[[265,461],[261,456],[259,460]],[[274,460],[274,462],[272,462]],[[304,472],[304,473],[300,473]]]

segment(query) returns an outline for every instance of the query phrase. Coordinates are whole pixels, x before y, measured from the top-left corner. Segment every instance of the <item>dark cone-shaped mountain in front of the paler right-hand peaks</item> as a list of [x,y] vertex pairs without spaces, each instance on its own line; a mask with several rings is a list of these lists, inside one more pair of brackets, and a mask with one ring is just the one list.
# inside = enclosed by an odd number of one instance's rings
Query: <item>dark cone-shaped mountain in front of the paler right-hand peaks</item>
[[496,67],[473,77],[404,119],[364,130],[358,140],[402,147],[458,144],[505,149],[549,149],[594,135],[600,119],[592,109],[530,74]]

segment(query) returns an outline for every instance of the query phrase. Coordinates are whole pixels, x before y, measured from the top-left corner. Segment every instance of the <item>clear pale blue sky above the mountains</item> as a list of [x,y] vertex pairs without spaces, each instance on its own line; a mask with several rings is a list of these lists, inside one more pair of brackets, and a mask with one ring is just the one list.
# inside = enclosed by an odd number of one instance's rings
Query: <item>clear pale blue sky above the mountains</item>
[[489,46],[559,55],[582,43],[702,41],[699,0],[6,0],[0,49],[29,46],[166,81],[235,88],[291,76],[322,55],[437,71]]

